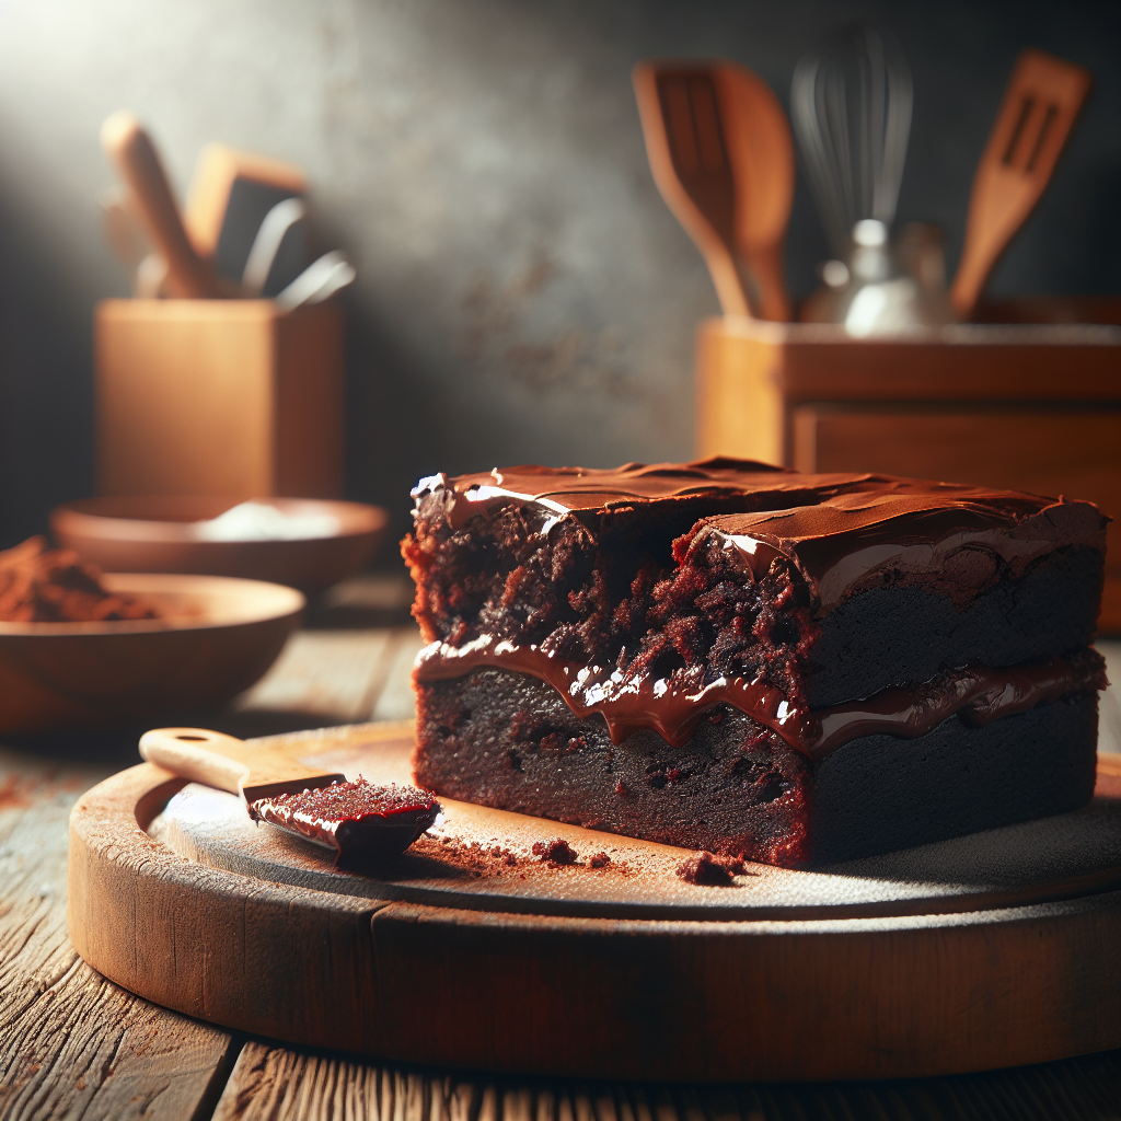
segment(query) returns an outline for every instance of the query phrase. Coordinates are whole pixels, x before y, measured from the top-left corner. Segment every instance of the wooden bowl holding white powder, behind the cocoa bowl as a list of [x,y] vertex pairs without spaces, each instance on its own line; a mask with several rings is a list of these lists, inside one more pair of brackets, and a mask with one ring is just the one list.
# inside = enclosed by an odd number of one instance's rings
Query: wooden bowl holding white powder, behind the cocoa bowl
[[50,512],[50,532],[105,572],[240,576],[288,584],[312,594],[361,572],[377,552],[389,515],[377,506],[319,499],[266,498],[289,516],[328,515],[339,531],[296,540],[206,540],[196,522],[238,499],[136,494],[82,499]]

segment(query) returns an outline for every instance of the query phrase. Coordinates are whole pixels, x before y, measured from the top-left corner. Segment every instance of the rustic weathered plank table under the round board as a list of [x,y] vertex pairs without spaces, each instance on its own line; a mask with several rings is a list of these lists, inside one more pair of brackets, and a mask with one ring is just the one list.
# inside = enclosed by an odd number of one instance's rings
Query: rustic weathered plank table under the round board
[[[211,726],[239,735],[401,720],[420,638],[407,590],[341,585]],[[1102,643],[1121,679],[1121,643]],[[1121,691],[1102,704],[1121,750]],[[202,720],[203,717],[200,717]],[[66,932],[67,818],[139,761],[139,730],[0,745],[0,1119],[938,1121],[1121,1118],[1121,1051],[951,1078],[720,1087],[576,1084],[355,1062],[167,1011],[90,969]]]

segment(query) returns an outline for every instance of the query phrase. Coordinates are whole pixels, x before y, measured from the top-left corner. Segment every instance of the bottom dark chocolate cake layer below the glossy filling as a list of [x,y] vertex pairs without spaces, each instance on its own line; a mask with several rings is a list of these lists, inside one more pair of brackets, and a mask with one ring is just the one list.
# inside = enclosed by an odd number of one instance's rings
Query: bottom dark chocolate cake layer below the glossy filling
[[417,781],[448,798],[773,864],[854,860],[1084,805],[1094,696],[915,740],[869,735],[821,763],[735,710],[674,748],[612,744],[526,674],[421,683]]

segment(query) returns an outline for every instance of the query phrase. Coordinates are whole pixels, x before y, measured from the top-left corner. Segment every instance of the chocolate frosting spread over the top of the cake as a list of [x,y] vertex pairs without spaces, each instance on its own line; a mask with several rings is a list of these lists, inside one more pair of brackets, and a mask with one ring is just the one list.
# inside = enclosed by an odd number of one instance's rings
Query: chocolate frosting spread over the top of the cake
[[739,512],[706,518],[748,568],[776,556],[802,574],[818,617],[865,587],[923,583],[962,603],[1003,575],[1066,545],[1105,549],[1105,521],[1071,502],[956,483],[877,474],[798,474],[748,460],[629,463],[614,470],[495,467],[489,474],[424,479],[418,502],[442,499],[455,528],[511,502],[541,513],[540,532],[560,519],[589,520],[649,503],[712,495]]

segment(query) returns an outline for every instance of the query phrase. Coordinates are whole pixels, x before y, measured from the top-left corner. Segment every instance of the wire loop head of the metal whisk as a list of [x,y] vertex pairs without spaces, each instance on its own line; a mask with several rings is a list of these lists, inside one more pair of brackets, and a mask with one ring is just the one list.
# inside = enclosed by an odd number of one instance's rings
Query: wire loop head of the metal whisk
[[790,114],[825,232],[849,256],[856,222],[891,224],[910,133],[912,86],[898,43],[845,28],[798,63]]

